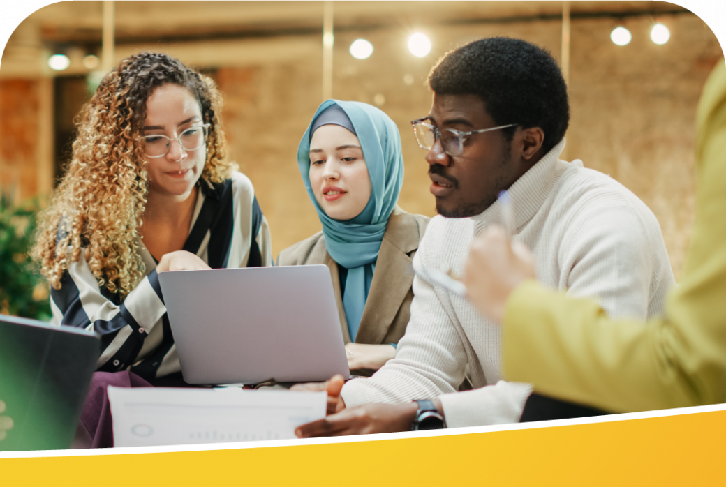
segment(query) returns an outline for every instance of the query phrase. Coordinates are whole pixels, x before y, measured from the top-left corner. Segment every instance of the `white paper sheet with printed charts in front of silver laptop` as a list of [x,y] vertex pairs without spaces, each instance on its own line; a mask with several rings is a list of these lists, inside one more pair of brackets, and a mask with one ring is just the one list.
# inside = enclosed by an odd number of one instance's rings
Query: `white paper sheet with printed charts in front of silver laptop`
[[325,392],[108,388],[114,446],[162,446],[295,438],[325,417]]

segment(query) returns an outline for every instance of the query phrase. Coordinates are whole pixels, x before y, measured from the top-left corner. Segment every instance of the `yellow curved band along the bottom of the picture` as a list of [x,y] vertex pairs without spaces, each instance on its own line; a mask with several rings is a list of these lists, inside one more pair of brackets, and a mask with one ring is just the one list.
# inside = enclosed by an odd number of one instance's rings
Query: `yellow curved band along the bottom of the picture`
[[725,409],[282,442],[289,446],[0,453],[0,485],[724,485]]

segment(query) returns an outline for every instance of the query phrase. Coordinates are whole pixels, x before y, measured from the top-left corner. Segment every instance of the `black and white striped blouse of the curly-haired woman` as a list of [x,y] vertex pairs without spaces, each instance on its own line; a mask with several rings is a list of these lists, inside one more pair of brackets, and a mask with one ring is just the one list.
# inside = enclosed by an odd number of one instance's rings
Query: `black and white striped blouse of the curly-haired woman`
[[[179,372],[174,338],[156,273],[156,261],[139,240],[147,274],[123,303],[96,278],[83,258],[69,266],[60,290],[51,290],[52,322],[85,328],[102,337],[97,369],[130,370],[144,379]],[[222,184],[200,181],[184,249],[212,269],[272,265],[269,227],[252,183],[242,173]]]

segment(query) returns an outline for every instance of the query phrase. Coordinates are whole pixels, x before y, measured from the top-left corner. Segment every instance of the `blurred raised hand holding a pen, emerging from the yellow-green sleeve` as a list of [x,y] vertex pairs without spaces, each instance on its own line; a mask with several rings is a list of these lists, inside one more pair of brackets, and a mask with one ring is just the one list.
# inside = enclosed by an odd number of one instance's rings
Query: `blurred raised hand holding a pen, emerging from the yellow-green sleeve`
[[462,282],[473,305],[501,322],[511,292],[534,278],[531,251],[520,242],[511,242],[501,226],[492,226],[474,240]]

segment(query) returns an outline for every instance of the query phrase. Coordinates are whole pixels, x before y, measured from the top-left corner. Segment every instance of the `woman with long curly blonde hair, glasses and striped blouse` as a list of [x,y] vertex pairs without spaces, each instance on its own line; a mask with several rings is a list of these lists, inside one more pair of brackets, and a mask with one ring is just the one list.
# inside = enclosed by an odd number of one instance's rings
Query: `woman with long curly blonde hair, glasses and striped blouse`
[[272,264],[252,184],[227,160],[220,107],[210,78],[142,53],[79,115],[33,255],[54,322],[102,336],[99,371],[147,381],[180,371],[158,272]]

